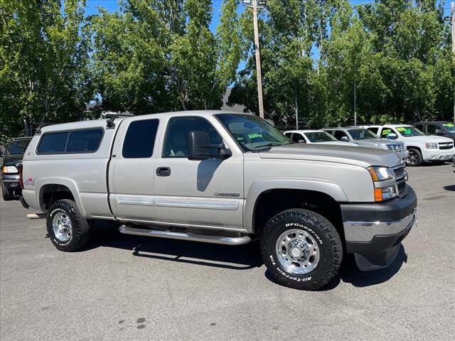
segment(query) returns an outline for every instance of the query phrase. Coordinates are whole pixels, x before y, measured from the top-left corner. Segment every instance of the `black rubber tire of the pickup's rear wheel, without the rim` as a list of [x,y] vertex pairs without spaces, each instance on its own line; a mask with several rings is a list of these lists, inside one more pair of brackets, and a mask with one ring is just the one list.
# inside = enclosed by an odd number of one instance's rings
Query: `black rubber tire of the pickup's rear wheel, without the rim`
[[[55,237],[53,231],[53,217],[57,212],[65,212],[70,218],[72,234],[68,242],[61,242]],[[48,217],[46,218],[48,236],[54,246],[60,251],[73,252],[85,247],[90,237],[90,224],[80,215],[79,209],[73,200],[63,199],[55,201],[50,205]]]

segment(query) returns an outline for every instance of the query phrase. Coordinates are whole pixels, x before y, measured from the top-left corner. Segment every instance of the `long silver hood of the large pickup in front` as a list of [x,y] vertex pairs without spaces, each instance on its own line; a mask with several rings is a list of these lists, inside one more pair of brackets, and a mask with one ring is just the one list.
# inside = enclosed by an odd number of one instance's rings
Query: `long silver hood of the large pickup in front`
[[307,161],[348,163],[355,166],[400,165],[402,160],[395,151],[379,148],[332,146],[326,144],[287,144],[259,153],[260,158],[279,158]]

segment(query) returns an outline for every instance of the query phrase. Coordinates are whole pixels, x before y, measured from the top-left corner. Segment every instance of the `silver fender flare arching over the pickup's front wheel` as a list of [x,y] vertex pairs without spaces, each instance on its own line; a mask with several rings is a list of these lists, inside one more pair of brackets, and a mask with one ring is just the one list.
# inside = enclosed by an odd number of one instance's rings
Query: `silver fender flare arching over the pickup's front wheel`
[[319,180],[312,178],[268,178],[257,180],[252,183],[245,200],[245,210],[243,211],[243,221],[245,222],[245,229],[253,232],[253,215],[255,206],[259,195],[268,190],[314,190],[333,197],[336,202],[348,202],[348,195],[346,195],[343,188],[338,183],[333,183],[328,180]]

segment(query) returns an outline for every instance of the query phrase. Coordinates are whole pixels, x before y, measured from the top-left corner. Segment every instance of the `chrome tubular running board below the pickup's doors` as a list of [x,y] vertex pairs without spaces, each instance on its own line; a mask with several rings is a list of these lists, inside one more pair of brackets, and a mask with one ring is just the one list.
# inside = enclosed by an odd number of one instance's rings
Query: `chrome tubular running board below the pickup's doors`
[[189,232],[173,232],[169,230],[161,231],[158,229],[137,229],[135,227],[129,227],[127,225],[121,225],[119,227],[119,232],[123,234],[134,234],[137,236],[182,239],[191,240],[192,242],[205,242],[225,245],[242,245],[251,242],[251,238],[248,236],[242,237],[210,236],[205,234],[193,234]]

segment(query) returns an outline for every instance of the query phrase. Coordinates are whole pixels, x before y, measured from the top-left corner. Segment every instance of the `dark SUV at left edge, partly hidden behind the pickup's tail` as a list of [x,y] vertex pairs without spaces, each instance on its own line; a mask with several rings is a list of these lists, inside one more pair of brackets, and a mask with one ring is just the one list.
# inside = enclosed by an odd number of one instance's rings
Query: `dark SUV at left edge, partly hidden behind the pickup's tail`
[[17,165],[22,163],[31,137],[18,137],[9,141],[1,164],[1,194],[4,200],[14,200],[21,196],[22,189]]

